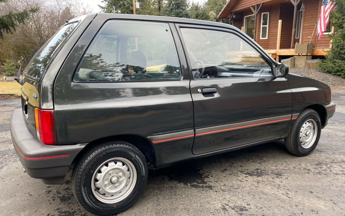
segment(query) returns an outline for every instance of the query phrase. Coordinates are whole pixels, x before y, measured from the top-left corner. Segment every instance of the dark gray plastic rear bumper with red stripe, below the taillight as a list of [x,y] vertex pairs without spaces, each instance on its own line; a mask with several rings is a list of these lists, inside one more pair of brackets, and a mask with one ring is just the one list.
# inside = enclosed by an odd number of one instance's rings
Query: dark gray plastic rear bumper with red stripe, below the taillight
[[32,178],[45,184],[62,184],[68,168],[86,144],[45,145],[28,129],[21,109],[14,110],[10,120],[14,150]]

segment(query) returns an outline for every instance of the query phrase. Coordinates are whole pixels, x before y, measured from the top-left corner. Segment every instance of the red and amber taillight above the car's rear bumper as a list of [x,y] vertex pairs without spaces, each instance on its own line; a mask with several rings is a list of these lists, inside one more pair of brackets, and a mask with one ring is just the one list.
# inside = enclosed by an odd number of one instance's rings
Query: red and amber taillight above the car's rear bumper
[[54,110],[35,108],[36,135],[46,145],[56,145]]

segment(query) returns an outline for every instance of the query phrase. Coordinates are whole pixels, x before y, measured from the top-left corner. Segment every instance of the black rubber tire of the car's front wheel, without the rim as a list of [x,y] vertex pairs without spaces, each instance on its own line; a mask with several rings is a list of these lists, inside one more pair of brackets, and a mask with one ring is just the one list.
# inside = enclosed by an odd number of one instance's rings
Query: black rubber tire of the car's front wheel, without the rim
[[[303,124],[309,119],[315,120],[317,124],[317,135],[311,147],[305,149],[302,147],[299,141],[299,137],[300,137],[299,133]],[[321,119],[320,119],[319,114],[315,110],[305,109],[298,115],[297,119],[295,120],[291,128],[289,135],[287,136],[287,138],[285,138],[284,140],[285,147],[290,153],[296,156],[306,156],[314,151],[317,143],[319,142],[320,135],[321,135]]]

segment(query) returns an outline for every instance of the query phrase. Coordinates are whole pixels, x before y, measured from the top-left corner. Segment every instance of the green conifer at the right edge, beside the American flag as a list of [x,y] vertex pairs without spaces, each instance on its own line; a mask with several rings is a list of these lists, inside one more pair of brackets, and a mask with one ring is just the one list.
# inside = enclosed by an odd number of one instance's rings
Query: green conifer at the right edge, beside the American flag
[[325,60],[318,62],[317,67],[322,72],[345,78],[345,0],[334,2],[337,6],[331,12],[330,21],[336,35],[329,36],[333,39],[332,49],[327,53]]

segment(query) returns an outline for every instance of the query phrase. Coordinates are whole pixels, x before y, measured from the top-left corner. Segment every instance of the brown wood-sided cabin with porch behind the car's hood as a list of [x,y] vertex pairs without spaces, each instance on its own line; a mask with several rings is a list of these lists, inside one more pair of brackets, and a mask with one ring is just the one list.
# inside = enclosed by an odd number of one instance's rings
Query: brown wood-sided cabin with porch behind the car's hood
[[[313,43],[313,56],[324,56],[332,46],[327,34],[319,40],[316,22],[322,0],[228,0],[217,18],[242,29],[260,46],[279,60],[294,56],[295,44]],[[284,58],[284,57],[283,57]]]

